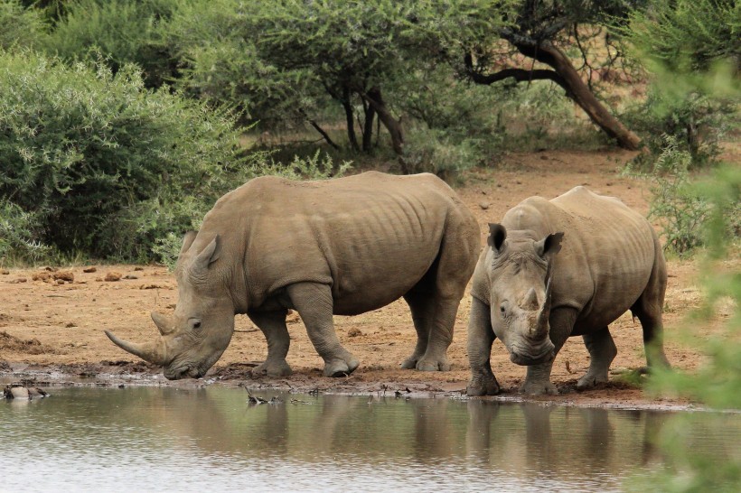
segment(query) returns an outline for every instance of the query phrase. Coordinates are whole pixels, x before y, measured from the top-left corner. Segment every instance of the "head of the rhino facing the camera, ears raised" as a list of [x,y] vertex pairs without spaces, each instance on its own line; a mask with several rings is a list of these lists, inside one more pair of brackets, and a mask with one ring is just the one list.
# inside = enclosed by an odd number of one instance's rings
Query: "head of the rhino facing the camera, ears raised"
[[533,239],[520,232],[508,238],[502,225],[489,225],[492,329],[512,363],[537,365],[554,358],[549,339],[550,265],[562,238],[563,233]]

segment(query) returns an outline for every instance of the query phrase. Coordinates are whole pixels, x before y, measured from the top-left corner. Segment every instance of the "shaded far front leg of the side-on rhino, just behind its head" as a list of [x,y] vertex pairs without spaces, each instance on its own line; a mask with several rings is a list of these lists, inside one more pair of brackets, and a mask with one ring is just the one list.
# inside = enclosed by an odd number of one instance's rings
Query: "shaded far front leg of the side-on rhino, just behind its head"
[[286,362],[291,338],[286,327],[286,313],[284,308],[275,312],[249,312],[249,320],[258,326],[267,340],[267,358],[264,363],[252,369],[253,375],[267,375],[268,377],[287,377],[293,371]]

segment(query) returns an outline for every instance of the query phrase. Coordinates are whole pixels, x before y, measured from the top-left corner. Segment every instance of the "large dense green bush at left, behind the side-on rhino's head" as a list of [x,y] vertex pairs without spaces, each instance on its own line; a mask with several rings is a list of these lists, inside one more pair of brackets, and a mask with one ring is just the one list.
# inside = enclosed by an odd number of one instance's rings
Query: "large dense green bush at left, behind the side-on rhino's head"
[[0,199],[62,253],[145,260],[155,237],[192,227],[259,159],[240,153],[228,114],[148,91],[132,66],[114,76],[0,53],[0,87]]

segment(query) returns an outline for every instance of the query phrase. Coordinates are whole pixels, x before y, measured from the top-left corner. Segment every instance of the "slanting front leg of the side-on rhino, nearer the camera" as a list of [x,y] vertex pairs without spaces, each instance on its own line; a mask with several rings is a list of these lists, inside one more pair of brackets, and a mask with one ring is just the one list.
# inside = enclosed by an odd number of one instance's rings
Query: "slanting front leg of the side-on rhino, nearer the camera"
[[314,349],[324,359],[324,377],[344,377],[358,360],[342,348],[334,331],[332,288],[327,284],[297,283],[286,287],[296,312],[304,321]]

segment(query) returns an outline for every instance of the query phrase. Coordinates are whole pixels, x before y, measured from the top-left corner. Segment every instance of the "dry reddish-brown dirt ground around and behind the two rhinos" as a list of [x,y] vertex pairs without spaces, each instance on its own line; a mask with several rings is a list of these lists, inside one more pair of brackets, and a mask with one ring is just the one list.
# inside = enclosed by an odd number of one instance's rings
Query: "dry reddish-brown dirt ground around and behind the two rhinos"
[[[601,153],[543,152],[507,155],[496,170],[479,170],[465,177],[458,188],[479,220],[482,244],[487,222],[502,218],[507,209],[531,195],[551,199],[576,185],[613,195],[645,214],[649,199],[646,184],[619,174],[632,153],[608,150]],[[93,270],[94,272],[85,272]],[[734,261],[728,268],[738,269]],[[699,305],[696,282],[698,265],[671,259],[664,321],[667,326],[666,352],[674,367],[693,370],[702,363],[697,349],[673,337],[677,326],[693,307]],[[426,373],[401,370],[399,364],[411,353],[416,333],[408,307],[403,301],[355,317],[335,317],[342,343],[360,360],[351,377],[321,376],[319,358],[295,314],[290,316],[292,337],[288,363],[294,375],[286,378],[252,378],[249,368],[267,354],[262,334],[246,316],[237,317],[229,349],[210,373],[199,381],[169,383],[158,368],[151,367],[114,346],[103,330],[119,337],[145,341],[155,337],[151,311],[173,312],[177,302],[173,275],[156,265],[77,265],[53,272],[44,268],[10,269],[0,275],[0,377],[35,381],[84,379],[98,385],[119,382],[199,386],[223,381],[226,385],[282,387],[298,391],[323,390],[347,393],[412,391],[436,395],[460,395],[469,377],[466,357],[466,321],[471,305],[466,294],[455,322],[455,337],[448,350],[452,369]],[[71,273],[73,279],[65,280]],[[58,279],[55,279],[57,277]],[[117,280],[114,280],[118,277]],[[718,317],[723,317],[720,313]],[[698,327],[696,336],[708,338],[714,330]],[[617,375],[623,368],[645,364],[641,326],[630,313],[611,326],[617,358],[611,383],[594,390],[574,390],[577,378],[589,364],[581,338],[567,341],[553,368],[552,379],[560,395],[539,400],[605,406],[672,406],[681,401],[644,395]],[[524,367],[511,364],[506,350],[497,341],[492,351],[492,368],[505,399],[517,397],[525,375]]]

